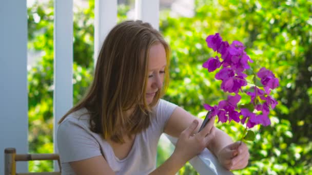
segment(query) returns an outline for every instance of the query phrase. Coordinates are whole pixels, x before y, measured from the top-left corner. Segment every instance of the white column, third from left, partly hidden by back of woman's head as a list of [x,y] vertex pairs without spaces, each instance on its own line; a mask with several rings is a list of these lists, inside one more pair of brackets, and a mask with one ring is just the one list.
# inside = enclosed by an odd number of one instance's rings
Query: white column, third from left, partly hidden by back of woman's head
[[95,0],[94,66],[108,32],[117,23],[117,0]]

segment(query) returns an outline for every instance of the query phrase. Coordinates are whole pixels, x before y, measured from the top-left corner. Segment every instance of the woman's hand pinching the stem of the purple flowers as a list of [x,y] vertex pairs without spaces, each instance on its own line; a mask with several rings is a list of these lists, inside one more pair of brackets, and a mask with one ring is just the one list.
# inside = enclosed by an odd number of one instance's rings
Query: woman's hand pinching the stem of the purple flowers
[[229,144],[222,148],[217,157],[219,162],[228,170],[245,168],[249,160],[247,145],[240,141]]

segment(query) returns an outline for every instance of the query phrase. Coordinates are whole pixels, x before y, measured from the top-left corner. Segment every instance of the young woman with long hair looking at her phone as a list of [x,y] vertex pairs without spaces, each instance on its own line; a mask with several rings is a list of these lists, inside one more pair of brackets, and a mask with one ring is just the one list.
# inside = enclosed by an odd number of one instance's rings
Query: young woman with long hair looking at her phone
[[[106,37],[86,96],[60,120],[62,174],[175,174],[205,147],[227,169],[246,167],[246,144],[162,100],[170,49],[148,23],[124,21]],[[170,158],[156,167],[162,133],[177,137]]]

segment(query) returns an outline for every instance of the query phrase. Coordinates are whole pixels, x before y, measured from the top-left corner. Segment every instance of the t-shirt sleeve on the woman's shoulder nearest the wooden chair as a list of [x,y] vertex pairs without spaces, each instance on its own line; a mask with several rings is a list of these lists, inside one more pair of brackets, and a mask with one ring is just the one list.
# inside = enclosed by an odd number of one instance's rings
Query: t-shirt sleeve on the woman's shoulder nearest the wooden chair
[[57,129],[57,148],[62,163],[100,156],[100,144],[78,120],[66,119]]

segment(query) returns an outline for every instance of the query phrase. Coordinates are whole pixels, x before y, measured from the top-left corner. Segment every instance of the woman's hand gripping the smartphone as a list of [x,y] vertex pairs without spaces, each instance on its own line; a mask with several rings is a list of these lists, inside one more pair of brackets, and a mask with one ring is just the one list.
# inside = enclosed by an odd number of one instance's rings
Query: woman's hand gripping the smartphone
[[198,120],[193,120],[189,127],[181,133],[177,144],[175,144],[173,154],[182,159],[184,162],[187,162],[203,151],[214,138],[214,130],[216,128],[214,128],[213,124],[215,118],[216,117],[212,117],[199,133],[197,133],[196,130]]

